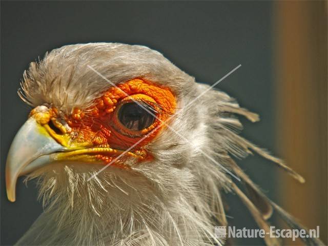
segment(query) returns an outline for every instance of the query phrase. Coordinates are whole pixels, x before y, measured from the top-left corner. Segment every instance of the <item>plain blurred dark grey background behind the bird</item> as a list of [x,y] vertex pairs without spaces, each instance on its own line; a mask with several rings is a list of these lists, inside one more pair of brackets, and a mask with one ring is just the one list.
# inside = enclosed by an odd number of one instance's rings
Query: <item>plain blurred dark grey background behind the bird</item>
[[[242,135],[279,155],[275,144],[273,2],[1,2],[1,245],[12,245],[42,212],[33,181],[17,182],[17,200],[7,200],[4,169],[11,141],[30,111],[17,96],[28,64],[54,48],[89,42],[140,44],[158,50],[201,83],[257,112]],[[273,200],[276,169],[258,156],[238,161]],[[238,228],[257,228],[241,202],[229,195],[228,215]],[[261,239],[236,241],[261,245]]]

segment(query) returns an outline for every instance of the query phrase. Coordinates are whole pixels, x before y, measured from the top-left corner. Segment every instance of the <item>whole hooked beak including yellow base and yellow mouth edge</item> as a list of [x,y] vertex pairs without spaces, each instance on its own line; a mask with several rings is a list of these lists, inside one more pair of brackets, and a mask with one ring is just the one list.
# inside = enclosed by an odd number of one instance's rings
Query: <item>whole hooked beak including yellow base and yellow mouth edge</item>
[[[10,201],[15,201],[16,181],[19,176],[28,174],[52,163],[107,163],[119,168],[127,168],[116,159],[127,154],[138,159],[145,158],[144,152],[127,152],[112,149],[109,146],[94,146],[92,142],[81,140],[74,142],[71,129],[59,124],[54,110],[46,106],[34,108],[29,119],[19,129],[10,146],[6,162],[6,188]],[[58,131],[50,123],[53,122]],[[99,157],[100,156],[100,157]],[[102,157],[105,157],[105,161]],[[116,157],[115,159],[113,159]]]

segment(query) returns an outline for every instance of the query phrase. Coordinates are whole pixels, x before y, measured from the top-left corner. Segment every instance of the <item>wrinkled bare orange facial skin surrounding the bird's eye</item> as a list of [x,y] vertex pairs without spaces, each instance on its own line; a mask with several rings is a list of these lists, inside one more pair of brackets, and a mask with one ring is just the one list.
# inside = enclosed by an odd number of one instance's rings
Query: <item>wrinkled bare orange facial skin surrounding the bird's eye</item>
[[[121,124],[118,119],[118,110],[125,103],[132,101],[151,106],[153,110],[150,111],[156,116],[151,126],[140,131],[133,131]],[[74,145],[83,145],[88,148],[111,148],[121,153],[149,134],[127,153],[128,156],[135,156],[142,160],[151,158],[142,147],[165,127],[162,122],[174,114],[176,99],[169,88],[155,85],[145,79],[135,78],[117,87],[111,87],[103,96],[97,98],[93,105],[85,110],[75,108],[72,114],[66,117],[68,125],[75,133],[71,140]],[[162,125],[158,127],[160,124]],[[93,156],[104,163],[109,163],[118,155],[108,155],[99,151]]]

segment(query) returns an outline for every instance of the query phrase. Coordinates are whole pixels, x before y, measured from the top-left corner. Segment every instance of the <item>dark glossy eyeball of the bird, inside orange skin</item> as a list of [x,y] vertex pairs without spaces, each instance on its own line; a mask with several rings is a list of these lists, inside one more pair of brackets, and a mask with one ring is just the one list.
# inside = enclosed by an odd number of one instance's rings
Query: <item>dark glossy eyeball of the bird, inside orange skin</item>
[[150,127],[155,117],[136,103],[127,103],[118,111],[119,121],[130,130],[140,131]]

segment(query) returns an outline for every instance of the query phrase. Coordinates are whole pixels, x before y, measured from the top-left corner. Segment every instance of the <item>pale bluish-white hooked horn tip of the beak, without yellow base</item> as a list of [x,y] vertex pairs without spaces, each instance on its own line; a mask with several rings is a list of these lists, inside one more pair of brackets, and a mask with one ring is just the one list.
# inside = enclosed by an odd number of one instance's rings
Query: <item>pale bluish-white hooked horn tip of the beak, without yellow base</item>
[[49,154],[65,151],[34,117],[19,129],[10,146],[6,162],[6,188],[10,201],[15,201],[16,181],[51,162]]

